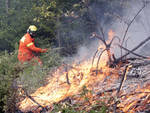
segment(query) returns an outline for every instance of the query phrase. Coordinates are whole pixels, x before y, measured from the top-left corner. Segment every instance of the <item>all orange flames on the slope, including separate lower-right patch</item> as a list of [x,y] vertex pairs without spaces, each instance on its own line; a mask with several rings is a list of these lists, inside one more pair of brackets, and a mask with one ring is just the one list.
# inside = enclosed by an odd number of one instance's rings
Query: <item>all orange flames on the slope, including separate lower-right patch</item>
[[[109,39],[107,43],[112,40],[114,34],[115,33],[112,30],[109,31],[108,33]],[[105,46],[101,44],[99,48],[105,49]],[[96,56],[95,58],[95,61],[97,60],[98,56]],[[95,92],[99,91],[100,89],[100,88],[96,89],[94,87],[94,85],[97,84],[101,86],[101,90],[104,90],[107,87],[112,87],[113,83],[118,82],[119,78],[118,71],[122,69],[121,68],[111,69],[107,67],[106,66],[107,61],[108,61],[108,54],[107,52],[104,52],[102,58],[100,59],[98,70],[96,68],[97,62],[94,62],[93,67],[91,68],[92,58],[81,62],[80,65],[77,65],[75,63],[72,64],[68,69],[68,72],[62,71],[64,69],[64,65],[60,66],[60,68],[58,68],[53,73],[53,75],[50,78],[48,78],[48,84],[46,86],[40,87],[30,96],[32,96],[36,102],[40,103],[41,106],[46,107],[51,106],[53,103],[60,102],[61,100],[64,100],[67,97],[79,94],[83,86],[87,86],[89,89],[92,89]],[[66,74],[68,74],[70,84],[67,83]],[[107,82],[105,87],[103,88],[102,86],[104,85],[105,81]],[[130,88],[132,88],[132,86]],[[122,94],[127,95],[122,96],[120,98],[121,103],[118,104],[118,108],[125,113],[127,112],[134,113],[135,111],[143,109],[144,106],[137,107],[135,105],[142,98],[146,98],[146,100],[141,101],[141,104],[150,103],[150,93],[147,92],[150,92],[150,84],[143,88],[138,87],[135,92],[132,92],[133,94],[137,93],[135,95],[123,92]],[[112,93],[107,96],[112,96],[114,94],[115,91],[112,91]],[[100,101],[103,100],[102,98],[96,98],[91,94],[87,94],[86,96],[90,98],[89,103],[91,105],[95,104],[97,100]],[[81,101],[83,100],[83,98],[76,98],[76,100]],[[110,104],[113,104],[113,102]],[[19,109],[22,110],[23,112],[34,111],[37,108],[38,105],[35,102],[33,102],[30,98],[25,98],[23,101],[19,103]]]

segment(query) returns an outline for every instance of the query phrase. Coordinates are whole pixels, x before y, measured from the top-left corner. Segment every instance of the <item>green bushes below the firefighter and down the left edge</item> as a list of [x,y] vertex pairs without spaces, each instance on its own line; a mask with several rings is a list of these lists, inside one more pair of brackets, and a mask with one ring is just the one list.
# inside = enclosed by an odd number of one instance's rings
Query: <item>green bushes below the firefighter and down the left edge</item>
[[[50,54],[51,53],[51,54]],[[17,103],[18,87],[27,89],[28,93],[45,84],[48,72],[61,63],[58,52],[43,55],[43,66],[31,63],[21,64],[17,52],[0,54],[0,112],[14,112]],[[42,57],[42,56],[41,56]]]

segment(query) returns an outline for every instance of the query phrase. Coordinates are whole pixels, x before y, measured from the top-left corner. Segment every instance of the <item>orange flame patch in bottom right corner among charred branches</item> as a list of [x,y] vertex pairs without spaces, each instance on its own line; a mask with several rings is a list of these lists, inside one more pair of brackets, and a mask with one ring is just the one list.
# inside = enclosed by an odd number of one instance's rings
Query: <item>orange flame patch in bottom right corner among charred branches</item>
[[[142,98],[144,98],[145,101],[142,101]],[[148,103],[150,104],[150,84],[147,84],[142,88],[138,86],[135,92],[122,97],[122,102],[118,105],[118,107],[120,107],[125,113],[134,113],[138,110],[143,110],[145,105]]]

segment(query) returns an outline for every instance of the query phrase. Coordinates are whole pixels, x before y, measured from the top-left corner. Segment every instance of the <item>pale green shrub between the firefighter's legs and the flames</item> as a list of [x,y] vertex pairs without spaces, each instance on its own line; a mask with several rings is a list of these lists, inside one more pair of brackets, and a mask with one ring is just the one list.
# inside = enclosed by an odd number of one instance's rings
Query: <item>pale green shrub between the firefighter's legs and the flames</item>
[[61,57],[56,51],[54,53],[50,50],[40,58],[43,61],[43,66],[25,63],[24,70],[18,78],[18,84],[21,84],[29,92],[33,92],[44,85],[46,77],[50,76],[48,72],[50,72],[53,67],[61,64]]

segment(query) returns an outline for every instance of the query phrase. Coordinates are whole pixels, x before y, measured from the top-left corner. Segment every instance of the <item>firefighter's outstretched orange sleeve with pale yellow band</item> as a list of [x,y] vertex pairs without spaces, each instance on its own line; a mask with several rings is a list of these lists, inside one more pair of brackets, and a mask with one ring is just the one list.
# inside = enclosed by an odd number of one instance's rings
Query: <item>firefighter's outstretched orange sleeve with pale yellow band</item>
[[36,46],[34,45],[33,42],[27,44],[27,47],[28,47],[30,50],[32,50],[32,51],[34,51],[34,52],[37,52],[37,53],[45,53],[45,52],[47,52],[47,49],[38,48],[38,47],[36,47]]

